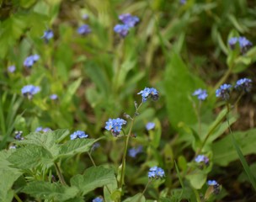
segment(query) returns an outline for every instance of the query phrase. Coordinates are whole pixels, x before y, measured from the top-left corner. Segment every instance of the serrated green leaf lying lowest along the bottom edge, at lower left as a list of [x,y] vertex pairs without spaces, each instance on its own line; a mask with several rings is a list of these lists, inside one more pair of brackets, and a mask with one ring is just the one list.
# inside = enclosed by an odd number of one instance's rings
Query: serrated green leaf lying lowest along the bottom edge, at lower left
[[22,192],[39,199],[65,201],[67,199],[74,198],[78,194],[79,190],[76,187],[67,187],[60,183],[35,181],[28,183],[28,185],[22,189]]

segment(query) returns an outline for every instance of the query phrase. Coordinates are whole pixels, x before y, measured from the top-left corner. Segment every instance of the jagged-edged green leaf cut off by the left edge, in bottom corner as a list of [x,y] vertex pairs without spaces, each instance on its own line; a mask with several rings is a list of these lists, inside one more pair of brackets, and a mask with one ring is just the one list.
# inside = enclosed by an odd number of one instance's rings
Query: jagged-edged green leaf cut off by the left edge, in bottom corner
[[11,202],[13,200],[13,183],[22,174],[17,168],[10,167],[7,158],[14,150],[0,151],[0,201]]

